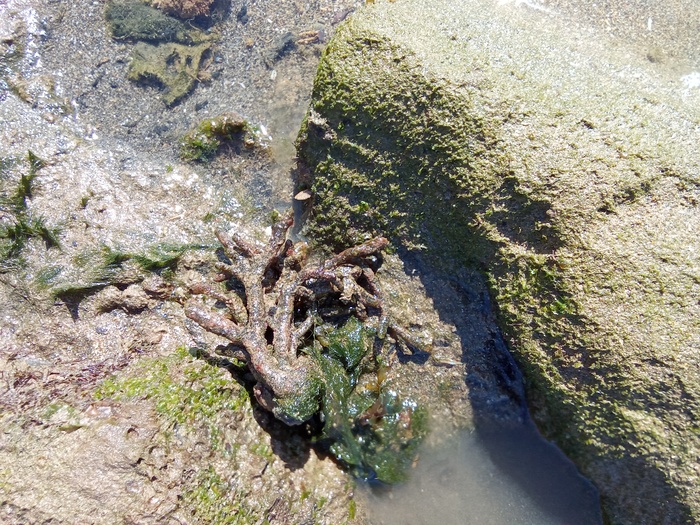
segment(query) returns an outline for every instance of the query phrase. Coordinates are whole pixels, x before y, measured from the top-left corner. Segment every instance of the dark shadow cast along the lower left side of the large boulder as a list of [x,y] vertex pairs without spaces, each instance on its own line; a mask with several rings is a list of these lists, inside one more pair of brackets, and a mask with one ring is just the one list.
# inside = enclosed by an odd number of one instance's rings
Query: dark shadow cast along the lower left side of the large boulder
[[420,257],[401,255],[405,269],[421,276],[441,320],[456,327],[477,440],[490,461],[553,519],[602,523],[597,489],[530,419],[525,382],[496,323],[483,276],[469,269],[440,275]]

